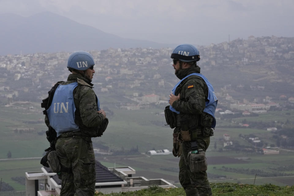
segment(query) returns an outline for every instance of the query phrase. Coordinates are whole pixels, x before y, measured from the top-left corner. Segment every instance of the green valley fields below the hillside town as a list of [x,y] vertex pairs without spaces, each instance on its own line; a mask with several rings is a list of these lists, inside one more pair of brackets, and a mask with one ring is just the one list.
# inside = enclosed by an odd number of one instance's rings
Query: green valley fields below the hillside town
[[[17,107],[16,107],[17,106]],[[29,107],[33,107],[29,109]],[[38,109],[34,109],[38,108]],[[140,153],[152,149],[172,149],[172,130],[164,126],[165,118],[161,114],[162,106],[158,109],[144,109],[140,111],[127,111],[111,108],[114,115],[108,116],[110,123],[101,138],[93,138],[94,144],[108,146],[113,150],[130,150],[136,148]],[[258,119],[246,118],[247,121],[272,121],[274,116],[279,116],[285,121],[286,113],[294,111],[269,112],[259,115]],[[0,106],[0,159],[6,159],[11,152],[11,158],[42,157],[43,150],[49,146],[46,136],[45,124],[42,122],[44,115],[38,103],[17,103],[13,107]],[[289,116],[288,116],[289,117]],[[292,117],[292,116],[291,116]],[[289,117],[290,118],[290,117]],[[40,119],[40,120],[39,120]],[[39,120],[39,121],[38,121]],[[234,119],[242,122],[243,118]],[[230,125],[223,121],[222,125]],[[18,129],[18,130],[16,130]],[[23,131],[20,131],[23,130]],[[294,153],[283,152],[278,155],[254,155],[235,151],[219,151],[223,147],[223,134],[230,134],[233,142],[240,145],[251,145],[239,134],[254,134],[267,142],[274,144],[273,133],[266,130],[250,128],[216,128],[211,137],[207,150],[209,180],[211,182],[254,183],[255,174],[224,171],[232,169],[256,169],[264,172],[274,172],[278,166],[293,164]],[[216,143],[216,148],[214,144]],[[95,147],[95,145],[94,145]],[[240,159],[240,157],[247,157]],[[239,159],[236,159],[239,158]],[[146,156],[137,155],[101,155],[96,156],[107,167],[130,166],[136,170],[137,176],[149,179],[164,178],[172,183],[178,183],[179,158],[170,155]],[[33,160],[0,160],[0,178],[9,183],[15,190],[25,190],[25,186],[12,180],[11,177],[24,176],[26,171],[40,171],[40,159]],[[276,169],[277,170],[277,169]],[[287,174],[294,170],[281,171]],[[220,179],[220,176],[225,176]],[[293,176],[262,177],[257,172],[255,184],[272,183],[279,186],[294,185]]]

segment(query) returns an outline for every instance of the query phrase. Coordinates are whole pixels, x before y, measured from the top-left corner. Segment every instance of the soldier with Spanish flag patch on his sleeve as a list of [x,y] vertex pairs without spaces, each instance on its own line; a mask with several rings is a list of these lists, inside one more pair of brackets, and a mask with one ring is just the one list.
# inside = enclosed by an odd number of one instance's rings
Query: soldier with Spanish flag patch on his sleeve
[[[168,124],[175,127],[173,155],[180,156],[179,181],[187,196],[212,195],[207,179],[205,151],[209,146],[217,98],[209,81],[200,74],[199,51],[182,44],[171,54],[175,75],[181,80],[169,95]],[[170,118],[169,116],[172,116]],[[174,120],[168,120],[174,119]]]

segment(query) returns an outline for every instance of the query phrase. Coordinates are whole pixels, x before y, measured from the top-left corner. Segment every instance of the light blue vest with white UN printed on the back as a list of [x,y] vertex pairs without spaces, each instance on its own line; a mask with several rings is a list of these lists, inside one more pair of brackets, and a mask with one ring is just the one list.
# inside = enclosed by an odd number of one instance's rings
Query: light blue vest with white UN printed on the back
[[47,109],[50,126],[55,129],[57,137],[64,132],[80,130],[74,122],[76,107],[73,91],[76,87],[77,82],[59,85],[54,93],[52,103]]

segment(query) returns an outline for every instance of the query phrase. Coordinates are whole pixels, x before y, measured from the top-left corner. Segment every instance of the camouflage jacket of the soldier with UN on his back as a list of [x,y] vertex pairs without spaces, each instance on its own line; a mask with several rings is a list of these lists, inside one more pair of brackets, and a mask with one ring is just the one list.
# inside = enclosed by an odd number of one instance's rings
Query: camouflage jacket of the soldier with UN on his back
[[[66,82],[58,83],[66,85],[76,81],[78,86],[73,92],[76,107],[74,113],[75,123],[80,127],[82,133],[92,137],[91,133],[96,131],[104,120],[104,116],[97,113],[96,95],[92,89],[93,84],[80,74],[70,74]],[[47,116],[45,117],[45,123],[49,126]]]

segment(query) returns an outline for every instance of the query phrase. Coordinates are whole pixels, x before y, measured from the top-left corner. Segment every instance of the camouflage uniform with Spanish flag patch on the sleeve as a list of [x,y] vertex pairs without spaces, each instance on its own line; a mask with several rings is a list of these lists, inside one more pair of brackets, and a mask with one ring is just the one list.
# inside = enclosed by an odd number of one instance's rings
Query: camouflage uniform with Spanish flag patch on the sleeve
[[[181,69],[176,74],[179,79],[192,73],[200,73],[200,67],[192,66]],[[194,85],[193,88],[188,86]],[[190,127],[192,141],[197,141],[198,149],[206,149],[209,146],[210,136],[213,130],[210,128],[213,117],[205,112],[205,99],[208,96],[208,87],[205,81],[199,76],[186,78],[175,90],[175,96],[180,93],[180,100],[173,102],[172,107],[180,114],[177,115],[177,126],[174,133],[179,133],[181,120],[185,119]],[[192,173],[188,164],[188,153],[192,150],[190,141],[181,142],[182,154],[179,161],[179,181],[187,196],[212,195],[206,171]]]

